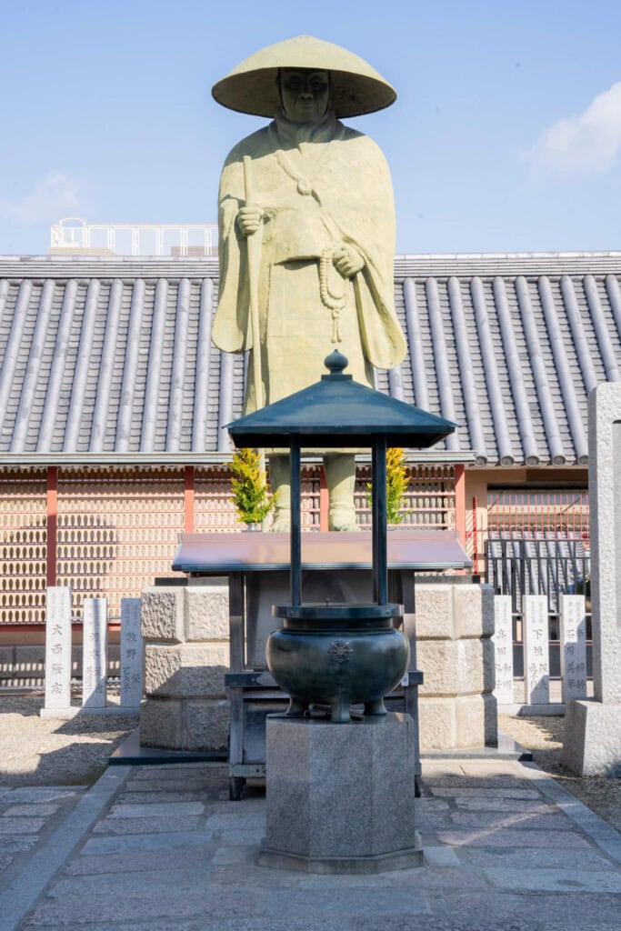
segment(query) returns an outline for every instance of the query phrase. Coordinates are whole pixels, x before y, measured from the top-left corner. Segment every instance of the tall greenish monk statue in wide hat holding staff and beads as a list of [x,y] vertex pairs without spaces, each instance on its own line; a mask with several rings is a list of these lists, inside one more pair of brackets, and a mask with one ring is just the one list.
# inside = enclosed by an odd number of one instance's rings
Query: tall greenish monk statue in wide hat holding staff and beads
[[[395,210],[377,145],[340,122],[395,101],[344,48],[301,35],[263,48],[212,89],[273,117],[228,155],[220,182],[220,302],[213,342],[250,350],[244,413],[317,382],[338,348],[358,382],[406,354],[393,300]],[[357,530],[355,451],[324,454],[331,530]],[[289,530],[288,456],[270,451],[272,530]]]

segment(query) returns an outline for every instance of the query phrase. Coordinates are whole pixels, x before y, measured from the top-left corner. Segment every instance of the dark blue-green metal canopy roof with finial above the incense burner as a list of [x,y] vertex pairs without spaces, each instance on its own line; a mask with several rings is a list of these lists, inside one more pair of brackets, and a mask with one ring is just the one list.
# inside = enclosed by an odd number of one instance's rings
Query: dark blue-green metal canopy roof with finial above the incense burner
[[347,358],[335,350],[325,359],[329,375],[289,398],[228,424],[236,446],[282,446],[299,437],[304,445],[333,448],[371,446],[376,437],[387,446],[426,448],[456,427],[436,414],[375,391],[344,374]]

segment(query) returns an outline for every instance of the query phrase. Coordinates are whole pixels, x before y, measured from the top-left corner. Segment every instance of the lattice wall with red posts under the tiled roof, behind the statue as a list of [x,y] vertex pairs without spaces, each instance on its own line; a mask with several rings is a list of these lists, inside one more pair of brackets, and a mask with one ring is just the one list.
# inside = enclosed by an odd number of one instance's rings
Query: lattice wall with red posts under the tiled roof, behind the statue
[[[52,467],[0,473],[0,624],[45,621],[47,584],[74,590],[74,619],[85,596],[105,596],[111,618],[123,597],[138,597],[170,564],[184,531],[241,531],[227,466]],[[370,522],[370,467],[360,466],[358,520]],[[318,529],[320,466],[303,470],[303,525]],[[408,526],[454,528],[452,466],[412,466]]]

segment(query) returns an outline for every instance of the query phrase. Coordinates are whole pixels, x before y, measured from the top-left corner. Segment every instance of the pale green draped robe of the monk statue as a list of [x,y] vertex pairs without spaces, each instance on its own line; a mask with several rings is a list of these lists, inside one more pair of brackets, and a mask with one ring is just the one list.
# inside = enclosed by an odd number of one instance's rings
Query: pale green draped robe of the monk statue
[[[251,159],[252,206],[263,209],[254,234],[263,382],[258,404],[248,242],[236,223],[246,203],[245,155]],[[331,114],[311,125],[278,115],[227,157],[219,227],[220,301],[212,339],[224,352],[252,350],[244,413],[318,381],[334,349],[349,359],[346,371],[363,385],[373,384],[372,366],[393,369],[405,357],[393,300],[392,184],[385,157],[368,136]],[[343,244],[364,260],[350,279],[332,264]]]

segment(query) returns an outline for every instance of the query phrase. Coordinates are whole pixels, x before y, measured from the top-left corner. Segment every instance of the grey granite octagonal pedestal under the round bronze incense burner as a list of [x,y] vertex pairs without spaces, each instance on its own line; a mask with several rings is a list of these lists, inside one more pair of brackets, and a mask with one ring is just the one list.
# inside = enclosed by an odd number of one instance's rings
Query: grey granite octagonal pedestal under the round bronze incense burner
[[267,719],[263,866],[377,873],[422,866],[413,722]]

